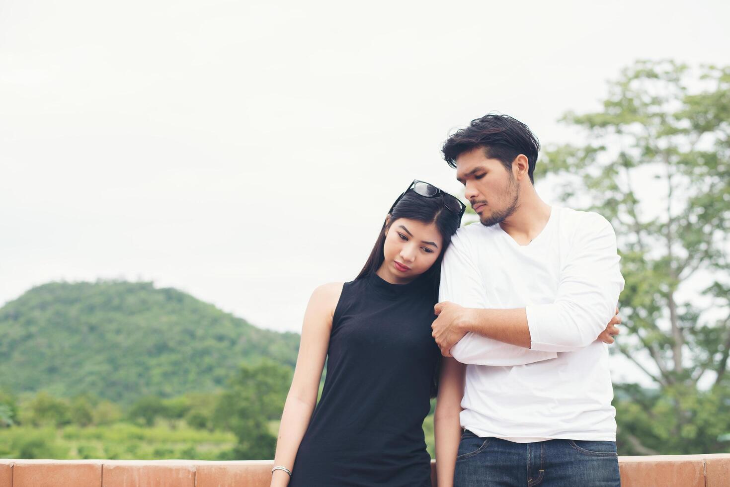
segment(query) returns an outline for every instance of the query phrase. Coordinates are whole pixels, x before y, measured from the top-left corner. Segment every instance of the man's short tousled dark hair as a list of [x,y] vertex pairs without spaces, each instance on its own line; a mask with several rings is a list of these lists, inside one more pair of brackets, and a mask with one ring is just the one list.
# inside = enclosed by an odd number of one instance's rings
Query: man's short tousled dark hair
[[490,159],[499,159],[507,171],[512,171],[512,161],[520,154],[527,158],[527,174],[534,184],[532,173],[537,162],[540,142],[529,127],[509,115],[490,113],[475,118],[465,129],[458,129],[446,142],[442,151],[449,166],[456,167],[456,158],[475,147],[483,147]]

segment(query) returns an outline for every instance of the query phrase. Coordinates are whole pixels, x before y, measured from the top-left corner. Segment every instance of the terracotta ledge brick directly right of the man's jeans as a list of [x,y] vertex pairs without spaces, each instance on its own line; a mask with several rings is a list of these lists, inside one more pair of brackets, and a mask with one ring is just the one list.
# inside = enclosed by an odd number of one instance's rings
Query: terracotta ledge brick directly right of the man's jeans
[[622,456],[622,487],[704,487],[702,455]]

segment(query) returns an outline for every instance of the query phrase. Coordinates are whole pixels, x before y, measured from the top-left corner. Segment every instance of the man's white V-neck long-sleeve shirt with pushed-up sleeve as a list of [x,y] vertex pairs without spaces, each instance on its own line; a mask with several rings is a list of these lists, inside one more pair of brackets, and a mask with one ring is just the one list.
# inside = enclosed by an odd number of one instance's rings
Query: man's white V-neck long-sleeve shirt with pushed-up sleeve
[[616,237],[593,212],[553,207],[519,245],[499,225],[465,226],[441,272],[439,301],[525,308],[531,348],[467,333],[451,349],[469,364],[461,426],[514,442],[615,441],[607,345],[596,340],[623,290]]

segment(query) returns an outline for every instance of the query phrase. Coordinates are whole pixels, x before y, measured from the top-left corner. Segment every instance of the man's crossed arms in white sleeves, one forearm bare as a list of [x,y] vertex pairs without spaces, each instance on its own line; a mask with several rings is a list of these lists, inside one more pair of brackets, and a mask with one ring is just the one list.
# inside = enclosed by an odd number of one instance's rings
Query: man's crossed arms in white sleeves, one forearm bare
[[[469,241],[457,234],[442,263],[442,302],[434,308],[432,334],[442,354],[451,355],[456,344],[455,358],[464,363],[517,365],[596,340],[612,342],[621,323],[615,303],[623,289],[616,237],[605,218],[585,218],[588,224],[579,229],[561,269],[556,299],[516,309],[490,309]],[[469,332],[474,335],[459,342]]]

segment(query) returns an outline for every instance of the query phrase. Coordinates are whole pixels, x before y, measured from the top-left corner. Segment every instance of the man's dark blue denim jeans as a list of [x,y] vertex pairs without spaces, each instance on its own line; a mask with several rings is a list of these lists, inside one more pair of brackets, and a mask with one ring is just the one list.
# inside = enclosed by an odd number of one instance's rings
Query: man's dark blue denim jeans
[[621,487],[616,443],[461,435],[454,487]]

